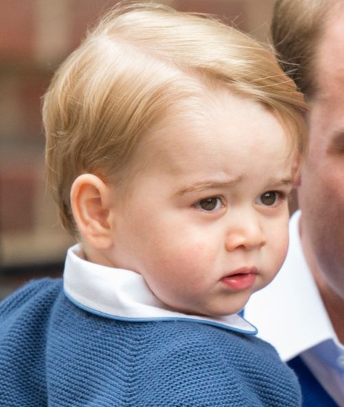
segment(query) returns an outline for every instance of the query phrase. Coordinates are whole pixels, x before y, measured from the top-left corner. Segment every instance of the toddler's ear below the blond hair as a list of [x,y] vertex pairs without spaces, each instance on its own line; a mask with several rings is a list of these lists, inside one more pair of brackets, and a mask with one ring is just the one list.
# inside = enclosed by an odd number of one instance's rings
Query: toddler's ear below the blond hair
[[83,238],[96,249],[112,244],[110,187],[93,174],[74,180],[70,199],[74,220]]

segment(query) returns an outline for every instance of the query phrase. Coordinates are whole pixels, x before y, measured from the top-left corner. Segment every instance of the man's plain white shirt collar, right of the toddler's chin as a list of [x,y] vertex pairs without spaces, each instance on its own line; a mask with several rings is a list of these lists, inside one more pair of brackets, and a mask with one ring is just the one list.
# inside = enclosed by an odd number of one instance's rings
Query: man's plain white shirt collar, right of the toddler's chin
[[290,220],[290,247],[281,271],[245,307],[245,316],[259,329],[258,336],[275,346],[283,360],[326,340],[341,347],[303,255],[300,214]]

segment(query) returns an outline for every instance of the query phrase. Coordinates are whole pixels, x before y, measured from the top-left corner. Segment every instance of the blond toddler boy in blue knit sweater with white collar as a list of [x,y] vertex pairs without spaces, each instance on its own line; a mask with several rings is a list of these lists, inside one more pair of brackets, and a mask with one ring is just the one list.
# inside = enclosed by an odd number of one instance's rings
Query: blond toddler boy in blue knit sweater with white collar
[[4,406],[299,406],[238,313],[275,277],[305,147],[274,56],[209,17],[118,6],[45,95],[63,282],[0,306]]

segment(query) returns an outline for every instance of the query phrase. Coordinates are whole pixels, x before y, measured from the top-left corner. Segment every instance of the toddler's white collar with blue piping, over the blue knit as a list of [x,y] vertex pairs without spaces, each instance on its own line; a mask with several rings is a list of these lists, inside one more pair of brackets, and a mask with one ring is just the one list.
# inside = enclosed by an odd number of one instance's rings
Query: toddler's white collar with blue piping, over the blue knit
[[255,326],[237,314],[203,317],[173,311],[155,297],[140,274],[88,262],[78,244],[67,252],[63,281],[65,294],[74,304],[115,320],[188,320],[248,335],[257,333]]

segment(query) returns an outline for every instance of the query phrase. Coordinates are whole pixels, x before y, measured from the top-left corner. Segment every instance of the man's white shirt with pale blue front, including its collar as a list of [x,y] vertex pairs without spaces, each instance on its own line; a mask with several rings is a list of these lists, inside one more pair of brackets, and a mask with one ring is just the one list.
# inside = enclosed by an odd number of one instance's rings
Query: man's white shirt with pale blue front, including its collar
[[281,271],[265,289],[252,295],[245,317],[283,360],[301,355],[327,393],[344,407],[344,346],[303,255],[300,216],[298,211],[290,220],[290,246]]

